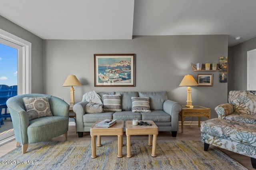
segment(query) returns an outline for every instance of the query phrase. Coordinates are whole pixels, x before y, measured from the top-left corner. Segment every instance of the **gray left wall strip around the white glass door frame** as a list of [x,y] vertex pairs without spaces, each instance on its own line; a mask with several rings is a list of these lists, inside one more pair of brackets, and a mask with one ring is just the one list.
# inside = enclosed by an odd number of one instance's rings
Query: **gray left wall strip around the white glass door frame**
[[0,29],[32,43],[31,91],[32,93],[44,93],[43,40],[2,16],[0,16]]

